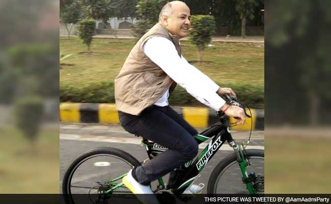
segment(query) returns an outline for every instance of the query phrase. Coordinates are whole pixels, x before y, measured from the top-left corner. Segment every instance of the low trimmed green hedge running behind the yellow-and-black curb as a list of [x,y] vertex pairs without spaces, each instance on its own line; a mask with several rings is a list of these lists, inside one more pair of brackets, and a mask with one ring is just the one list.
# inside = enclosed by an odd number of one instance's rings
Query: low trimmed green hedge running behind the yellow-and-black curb
[[[222,87],[231,87],[237,94],[238,99],[251,108],[264,108],[263,87],[247,84],[217,84]],[[73,103],[115,103],[114,82],[94,82],[84,87],[61,84],[60,101],[71,101]],[[172,106],[204,106],[179,86],[172,92],[169,102]]]

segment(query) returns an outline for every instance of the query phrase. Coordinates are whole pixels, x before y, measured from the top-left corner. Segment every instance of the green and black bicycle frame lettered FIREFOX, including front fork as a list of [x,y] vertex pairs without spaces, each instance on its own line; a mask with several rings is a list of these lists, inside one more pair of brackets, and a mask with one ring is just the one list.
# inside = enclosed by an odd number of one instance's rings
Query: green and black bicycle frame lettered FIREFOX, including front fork
[[[237,155],[237,162],[240,167],[240,171],[242,173],[242,181],[246,185],[247,190],[251,194],[255,194],[256,191],[253,187],[252,175],[248,174],[246,171],[246,167],[250,165],[248,158],[245,157],[244,149],[241,145],[237,145],[233,140],[229,126],[227,124],[227,119],[224,113],[217,113],[220,122],[217,122],[209,127],[209,129],[203,131],[202,133],[195,136],[198,144],[205,142],[206,140],[213,138],[208,145],[203,149],[201,154],[195,161],[188,161],[178,169],[178,171],[182,176],[177,176],[171,190],[176,193],[182,193],[186,188],[188,188],[191,184],[193,184],[196,179],[200,176],[200,171],[204,169],[206,164],[210,161],[210,159],[216,154],[217,150],[227,141],[230,146],[234,149]],[[163,147],[157,143],[150,142],[147,139],[142,140],[142,145],[146,147],[147,154],[149,159],[153,159],[160,152],[166,151],[167,148]],[[159,188],[164,188],[164,183],[162,178],[158,179]],[[170,189],[168,189],[170,190]]]

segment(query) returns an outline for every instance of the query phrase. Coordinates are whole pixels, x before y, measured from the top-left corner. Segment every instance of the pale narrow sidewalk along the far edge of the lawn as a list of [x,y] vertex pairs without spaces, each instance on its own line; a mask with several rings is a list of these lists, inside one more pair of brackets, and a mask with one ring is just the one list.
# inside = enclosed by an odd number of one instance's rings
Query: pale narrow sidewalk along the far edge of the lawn
[[[60,35],[61,37],[67,37],[66,35]],[[71,35],[70,37],[78,37]],[[119,39],[134,39],[132,36],[118,35]],[[114,35],[95,35],[93,38],[116,38]],[[182,41],[187,41],[187,37],[182,38]],[[262,43],[264,44],[264,36],[246,36],[242,38],[241,36],[217,36],[211,38],[212,42],[229,42],[229,43]]]

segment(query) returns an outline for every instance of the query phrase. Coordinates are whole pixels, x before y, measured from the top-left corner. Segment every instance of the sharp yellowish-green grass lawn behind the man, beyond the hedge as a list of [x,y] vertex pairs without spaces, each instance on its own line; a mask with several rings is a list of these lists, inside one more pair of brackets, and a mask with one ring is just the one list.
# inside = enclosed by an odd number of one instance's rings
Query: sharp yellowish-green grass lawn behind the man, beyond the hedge
[[[91,102],[93,93],[81,92],[94,88],[94,92],[103,86],[111,86],[122,65],[134,45],[134,40],[93,39],[92,53],[87,54],[86,45],[77,37],[60,37],[60,52],[74,56],[63,61],[60,69],[61,101],[71,100]],[[240,92],[241,99],[249,98],[250,92],[257,100],[246,101],[253,107],[262,107],[264,103],[264,45],[246,43],[213,43],[214,47],[207,47],[203,62],[198,64],[198,50],[187,41],[182,42],[182,54],[187,61],[207,74],[220,86],[233,87]],[[97,85],[96,85],[97,84]],[[97,88],[98,87],[98,88]],[[78,90],[79,89],[79,90]],[[237,90],[236,90],[237,89]],[[78,91],[77,91],[78,90]],[[70,93],[72,92],[72,93]],[[77,93],[80,95],[78,97]],[[86,96],[92,94],[91,96]],[[100,95],[100,94],[99,94]],[[102,95],[102,94],[101,94]],[[176,95],[176,94],[175,94]],[[182,94],[177,94],[181,97]],[[187,97],[187,96],[186,96]],[[101,99],[100,103],[113,102],[112,97]],[[175,100],[175,104],[178,104]],[[193,100],[183,102],[186,105],[197,105]],[[96,103],[93,101],[93,103]],[[180,103],[179,103],[180,104]]]

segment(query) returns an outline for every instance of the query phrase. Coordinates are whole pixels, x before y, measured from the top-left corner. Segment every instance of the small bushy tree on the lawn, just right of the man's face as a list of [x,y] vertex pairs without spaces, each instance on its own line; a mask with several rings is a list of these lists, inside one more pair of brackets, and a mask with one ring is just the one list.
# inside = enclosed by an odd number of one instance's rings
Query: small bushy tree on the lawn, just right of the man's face
[[211,35],[215,32],[215,18],[210,15],[191,16],[191,30],[189,31],[189,40],[198,46],[199,63],[203,55],[206,44],[211,41]]

